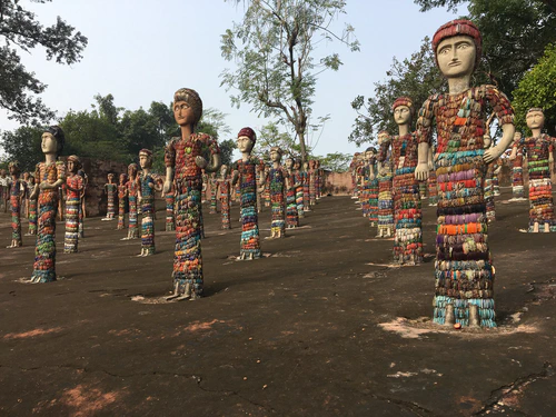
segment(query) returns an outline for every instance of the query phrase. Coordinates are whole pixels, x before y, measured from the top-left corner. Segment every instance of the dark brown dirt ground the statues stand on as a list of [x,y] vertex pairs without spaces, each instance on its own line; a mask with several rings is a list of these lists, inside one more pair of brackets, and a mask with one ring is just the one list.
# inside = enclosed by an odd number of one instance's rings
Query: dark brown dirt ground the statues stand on
[[[427,262],[405,268],[349,197],[324,198],[255,261],[232,259],[240,225],[222,231],[207,208],[198,301],[159,302],[175,239],[163,211],[148,258],[100,218],[64,255],[58,224],[52,284],[20,281],[24,237],[0,249],[0,416],[554,416],[556,234],[519,232],[528,206],[509,192],[489,234],[499,327],[481,331],[430,322],[433,207]],[[269,224],[266,208],[262,237]],[[0,247],[10,236],[1,214]]]

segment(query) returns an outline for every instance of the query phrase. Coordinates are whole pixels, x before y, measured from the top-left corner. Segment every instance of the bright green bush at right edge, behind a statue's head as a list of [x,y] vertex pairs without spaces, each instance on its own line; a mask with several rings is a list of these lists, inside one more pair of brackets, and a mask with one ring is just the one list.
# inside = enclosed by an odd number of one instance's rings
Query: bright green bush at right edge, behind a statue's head
[[525,122],[527,110],[540,107],[545,111],[545,128],[549,135],[556,135],[556,43],[546,48],[544,57],[522,79],[514,91],[513,106],[517,129],[528,131]]

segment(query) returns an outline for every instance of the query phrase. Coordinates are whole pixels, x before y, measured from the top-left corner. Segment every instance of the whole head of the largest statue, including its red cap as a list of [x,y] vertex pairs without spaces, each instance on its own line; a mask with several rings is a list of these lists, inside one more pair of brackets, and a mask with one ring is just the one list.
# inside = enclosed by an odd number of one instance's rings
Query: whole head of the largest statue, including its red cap
[[436,31],[433,37],[433,51],[444,77],[470,76],[480,61],[480,31],[470,20],[453,20]]

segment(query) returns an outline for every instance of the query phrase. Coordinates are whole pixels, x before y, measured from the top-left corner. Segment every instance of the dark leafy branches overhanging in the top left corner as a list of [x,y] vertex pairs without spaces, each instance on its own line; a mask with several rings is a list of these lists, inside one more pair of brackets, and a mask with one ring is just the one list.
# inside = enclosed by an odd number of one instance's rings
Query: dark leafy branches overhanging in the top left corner
[[8,117],[29,123],[48,121],[54,116],[37,97],[47,86],[23,67],[20,51],[30,53],[42,47],[47,60],[72,64],[81,60],[86,46],[87,38],[60,17],[54,24],[43,27],[34,13],[23,9],[20,0],[0,0],[0,107],[8,110]]

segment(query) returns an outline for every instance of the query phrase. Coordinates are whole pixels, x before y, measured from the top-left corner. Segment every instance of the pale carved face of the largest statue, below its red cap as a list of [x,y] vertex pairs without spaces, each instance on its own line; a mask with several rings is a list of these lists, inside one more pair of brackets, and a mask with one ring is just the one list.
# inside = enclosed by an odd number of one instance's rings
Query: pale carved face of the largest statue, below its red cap
[[446,78],[470,76],[477,50],[471,37],[458,34],[443,40],[436,49],[438,68]]

